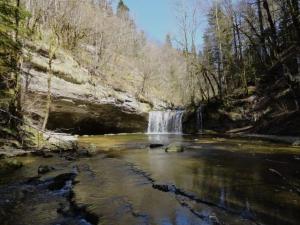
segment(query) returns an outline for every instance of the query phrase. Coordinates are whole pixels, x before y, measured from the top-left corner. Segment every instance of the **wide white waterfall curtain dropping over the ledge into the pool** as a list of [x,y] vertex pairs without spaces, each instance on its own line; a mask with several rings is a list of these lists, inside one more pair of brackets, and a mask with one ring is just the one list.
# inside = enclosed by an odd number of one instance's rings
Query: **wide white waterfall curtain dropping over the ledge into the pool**
[[149,134],[181,134],[182,110],[152,111],[149,113]]

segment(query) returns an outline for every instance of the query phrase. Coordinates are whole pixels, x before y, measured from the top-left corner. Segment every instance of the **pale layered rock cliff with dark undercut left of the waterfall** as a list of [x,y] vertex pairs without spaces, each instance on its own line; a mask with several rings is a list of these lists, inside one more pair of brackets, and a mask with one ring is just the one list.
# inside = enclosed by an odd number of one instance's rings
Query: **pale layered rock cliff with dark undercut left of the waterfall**
[[[28,45],[22,74],[23,108],[39,126],[46,109],[49,59],[45,49]],[[55,55],[52,69],[48,129],[77,134],[146,130],[150,103],[104,84],[63,51]]]

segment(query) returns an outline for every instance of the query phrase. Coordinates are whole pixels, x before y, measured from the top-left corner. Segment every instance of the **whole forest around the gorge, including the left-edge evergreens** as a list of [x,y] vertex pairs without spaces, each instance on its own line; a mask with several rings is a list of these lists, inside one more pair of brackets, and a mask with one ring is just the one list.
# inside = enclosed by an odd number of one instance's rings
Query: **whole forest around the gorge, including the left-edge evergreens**
[[[201,1],[174,1],[170,7],[178,32],[167,34],[165,43],[148,40],[123,1],[115,11],[113,4],[107,0],[1,1],[1,109],[19,118],[26,114],[22,66],[32,58],[30,48],[40,43],[48,54],[46,111],[55,72],[51,64],[60,49],[88,71],[90,83],[105,83],[152,105],[157,99],[169,108],[219,100],[230,105],[232,99],[255,92],[258,108],[267,108],[262,101],[274,103],[269,110],[273,117],[299,111],[297,0],[213,1],[205,9]],[[204,10],[208,25],[200,34]],[[265,96],[271,100],[260,100]],[[248,111],[252,120],[264,114]],[[16,121],[9,122],[16,126]]]

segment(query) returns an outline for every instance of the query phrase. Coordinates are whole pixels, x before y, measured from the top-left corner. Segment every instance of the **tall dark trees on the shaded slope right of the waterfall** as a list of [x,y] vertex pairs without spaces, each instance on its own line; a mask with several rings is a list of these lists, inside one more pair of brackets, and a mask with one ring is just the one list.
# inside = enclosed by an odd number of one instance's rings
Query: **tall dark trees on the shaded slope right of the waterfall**
[[[189,89],[194,89],[191,103],[226,100],[240,88],[247,94],[251,85],[264,92],[280,81],[298,109],[299,1],[214,0],[208,8],[197,0],[177,2],[178,43],[187,65],[196,65],[186,70]],[[195,21],[203,11],[208,12],[208,26],[202,48],[195,51],[194,42],[201,38]]]

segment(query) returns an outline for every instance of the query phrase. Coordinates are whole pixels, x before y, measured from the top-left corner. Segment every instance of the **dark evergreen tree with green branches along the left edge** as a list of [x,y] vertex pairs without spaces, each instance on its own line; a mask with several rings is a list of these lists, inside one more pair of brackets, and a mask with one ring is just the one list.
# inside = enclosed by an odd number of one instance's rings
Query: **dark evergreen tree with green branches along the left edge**
[[[20,67],[22,60],[22,22],[26,12],[20,1],[0,0],[0,107],[14,117],[6,119],[1,111],[1,123],[20,131],[22,121]],[[18,118],[18,120],[16,120]],[[1,126],[1,124],[0,124]],[[20,136],[19,136],[20,137]]]

